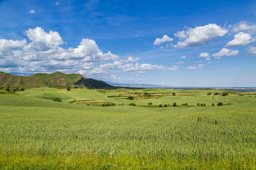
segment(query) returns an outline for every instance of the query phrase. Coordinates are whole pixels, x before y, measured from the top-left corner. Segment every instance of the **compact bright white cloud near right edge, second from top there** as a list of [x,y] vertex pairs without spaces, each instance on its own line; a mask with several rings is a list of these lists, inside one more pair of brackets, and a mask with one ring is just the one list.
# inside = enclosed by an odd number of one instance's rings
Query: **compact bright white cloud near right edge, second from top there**
[[251,39],[252,39],[252,36],[250,36],[250,34],[241,32],[241,33],[235,34],[234,40],[228,42],[226,44],[226,47],[237,47],[237,46],[247,45],[248,43],[253,41]]

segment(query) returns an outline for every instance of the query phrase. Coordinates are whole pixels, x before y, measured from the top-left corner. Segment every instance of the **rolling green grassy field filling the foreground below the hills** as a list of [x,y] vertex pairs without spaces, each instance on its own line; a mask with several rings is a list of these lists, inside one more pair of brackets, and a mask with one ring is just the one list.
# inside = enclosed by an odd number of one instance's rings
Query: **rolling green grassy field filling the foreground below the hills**
[[[108,97],[145,92],[165,96]],[[256,170],[255,95],[215,92],[222,93],[37,88],[1,94],[0,169]],[[116,106],[67,103],[75,100]],[[128,106],[131,102],[138,107]],[[140,107],[148,102],[156,107]],[[158,106],[173,102],[179,107]],[[182,107],[186,102],[195,106]]]

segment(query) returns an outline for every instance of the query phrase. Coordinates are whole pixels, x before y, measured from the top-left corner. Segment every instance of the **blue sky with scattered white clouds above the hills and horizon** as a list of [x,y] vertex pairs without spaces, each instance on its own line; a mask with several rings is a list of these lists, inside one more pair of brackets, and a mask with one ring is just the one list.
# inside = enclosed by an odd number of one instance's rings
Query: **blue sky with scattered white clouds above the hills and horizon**
[[0,70],[256,87],[255,0],[0,0]]

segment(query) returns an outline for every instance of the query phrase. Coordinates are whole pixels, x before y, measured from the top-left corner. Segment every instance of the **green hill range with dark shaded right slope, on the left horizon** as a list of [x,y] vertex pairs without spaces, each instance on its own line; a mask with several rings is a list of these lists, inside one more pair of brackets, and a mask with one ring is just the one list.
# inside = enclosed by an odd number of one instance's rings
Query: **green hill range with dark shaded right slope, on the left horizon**
[[[17,88],[23,86],[25,88],[51,87],[66,88],[67,86],[94,87],[97,89],[118,89],[123,87],[109,85],[103,81],[87,78],[80,74],[65,74],[55,72],[51,74],[37,73],[30,76],[15,76],[0,71],[0,86]],[[131,87],[127,87],[131,89]]]

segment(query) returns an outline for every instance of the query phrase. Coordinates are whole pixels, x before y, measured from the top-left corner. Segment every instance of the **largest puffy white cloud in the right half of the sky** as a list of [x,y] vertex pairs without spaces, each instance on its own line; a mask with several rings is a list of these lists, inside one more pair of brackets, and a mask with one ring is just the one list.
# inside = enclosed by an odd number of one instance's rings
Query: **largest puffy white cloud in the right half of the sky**
[[175,48],[185,48],[196,45],[204,45],[217,36],[223,36],[228,31],[225,28],[221,28],[216,24],[208,24],[206,26],[196,26],[195,28],[188,28],[185,31],[179,31],[175,33],[175,37],[178,37],[183,42],[178,42],[174,45]]

